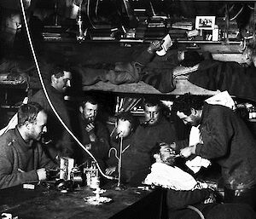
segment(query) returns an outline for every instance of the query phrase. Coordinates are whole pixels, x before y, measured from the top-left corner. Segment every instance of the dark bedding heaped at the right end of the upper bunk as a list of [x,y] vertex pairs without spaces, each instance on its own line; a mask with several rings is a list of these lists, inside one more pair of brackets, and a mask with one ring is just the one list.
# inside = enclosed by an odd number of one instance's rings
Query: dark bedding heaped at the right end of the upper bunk
[[189,82],[204,89],[227,90],[230,95],[256,101],[256,67],[235,61],[206,60],[189,74]]

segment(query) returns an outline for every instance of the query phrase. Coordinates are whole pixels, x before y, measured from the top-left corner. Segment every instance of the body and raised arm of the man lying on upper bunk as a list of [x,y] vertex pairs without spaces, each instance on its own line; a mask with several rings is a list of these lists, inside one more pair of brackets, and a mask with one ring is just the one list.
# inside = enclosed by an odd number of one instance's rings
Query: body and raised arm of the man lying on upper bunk
[[[82,76],[83,85],[96,84],[98,81],[112,84],[130,84],[143,81],[161,92],[170,92],[175,88],[172,80],[172,68],[177,65],[169,61],[151,63],[155,52],[161,49],[163,41],[150,43],[147,49],[135,55],[133,61],[113,64],[96,64],[94,66],[73,66],[73,72]],[[148,63],[150,65],[148,66]]]

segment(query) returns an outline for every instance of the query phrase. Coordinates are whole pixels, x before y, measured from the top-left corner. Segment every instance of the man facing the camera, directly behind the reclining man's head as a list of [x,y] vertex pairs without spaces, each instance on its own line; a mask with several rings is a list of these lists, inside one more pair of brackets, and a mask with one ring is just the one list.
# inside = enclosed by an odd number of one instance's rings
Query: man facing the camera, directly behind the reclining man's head
[[[134,134],[135,150],[138,156],[132,158],[137,169],[148,173],[151,149],[159,142],[172,142],[177,140],[177,133],[172,121],[166,119],[163,106],[156,98],[144,101],[144,123],[137,127]],[[145,176],[143,177],[145,178]]]

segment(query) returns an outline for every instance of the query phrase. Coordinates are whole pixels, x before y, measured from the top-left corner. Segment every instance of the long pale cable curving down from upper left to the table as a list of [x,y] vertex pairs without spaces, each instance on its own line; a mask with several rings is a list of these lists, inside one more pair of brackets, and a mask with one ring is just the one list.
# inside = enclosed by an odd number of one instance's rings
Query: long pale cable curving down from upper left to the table
[[36,65],[36,68],[37,68],[37,72],[38,72],[38,76],[39,76],[39,80],[40,80],[40,83],[42,85],[42,88],[44,90],[44,95],[46,96],[46,99],[47,101],[49,102],[49,106],[51,107],[52,111],[55,113],[55,116],[60,120],[61,124],[63,125],[63,127],[67,130],[67,132],[73,137],[73,139],[79,144],[80,147],[82,147],[84,149],[84,151],[86,153],[88,153],[90,155],[90,157],[96,162],[96,165],[100,171],[100,173],[102,174],[102,176],[106,177],[107,179],[115,179],[113,176],[107,176],[103,173],[100,165],[97,163],[96,161],[96,158],[90,153],[89,150],[87,150],[84,145],[78,140],[78,138],[73,135],[73,132],[71,130],[68,129],[67,125],[62,121],[61,117],[59,116],[58,112],[56,112],[55,110],[55,107],[53,106],[52,102],[50,101],[49,99],[49,95],[47,93],[47,90],[45,89],[45,85],[44,85],[44,81],[43,81],[43,77],[42,77],[42,74],[40,72],[40,69],[39,69],[39,66],[38,66],[38,60],[37,60],[37,56],[35,54],[35,51],[34,51],[34,48],[33,48],[33,45],[32,45],[32,38],[30,36],[30,32],[29,32],[29,29],[28,29],[28,25],[27,25],[27,21],[26,21],[26,14],[25,14],[25,9],[24,9],[24,5],[23,5],[23,2],[22,0],[20,0],[20,7],[21,7],[21,11],[22,11],[22,15],[23,15],[23,19],[24,19],[24,22],[25,22],[25,27],[26,27],[26,35],[27,35],[27,38],[28,38],[28,41],[29,41],[29,45],[30,45],[30,48],[32,50],[32,57],[33,57],[33,60],[35,61],[35,65]]

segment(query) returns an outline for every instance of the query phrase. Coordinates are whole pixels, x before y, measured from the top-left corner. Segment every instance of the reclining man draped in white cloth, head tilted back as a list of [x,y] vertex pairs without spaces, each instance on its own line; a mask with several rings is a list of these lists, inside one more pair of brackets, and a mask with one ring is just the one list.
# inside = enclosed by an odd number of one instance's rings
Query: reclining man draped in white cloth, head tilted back
[[249,205],[216,203],[212,188],[174,165],[177,155],[166,143],[157,144],[151,154],[154,164],[144,183],[166,188],[169,218],[256,218]]

